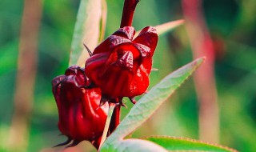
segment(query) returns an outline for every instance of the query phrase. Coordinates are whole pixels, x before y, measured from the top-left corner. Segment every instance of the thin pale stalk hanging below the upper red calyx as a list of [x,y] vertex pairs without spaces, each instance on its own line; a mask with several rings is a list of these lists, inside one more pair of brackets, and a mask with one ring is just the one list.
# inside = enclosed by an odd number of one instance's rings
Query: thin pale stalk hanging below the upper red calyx
[[108,112],[108,114],[107,114],[106,124],[105,124],[104,130],[103,130],[102,140],[101,140],[101,143],[100,143],[100,145],[99,145],[99,147],[98,147],[98,150],[101,149],[102,144],[103,144],[103,143],[105,142],[105,140],[106,140],[106,134],[107,134],[107,132],[108,132],[108,130],[109,130],[109,127],[110,127],[110,121],[111,121],[111,118],[112,118],[112,114],[113,114],[113,111],[114,111],[114,107],[116,106],[115,103],[109,102],[109,104],[110,104],[110,109],[109,109],[109,112]]

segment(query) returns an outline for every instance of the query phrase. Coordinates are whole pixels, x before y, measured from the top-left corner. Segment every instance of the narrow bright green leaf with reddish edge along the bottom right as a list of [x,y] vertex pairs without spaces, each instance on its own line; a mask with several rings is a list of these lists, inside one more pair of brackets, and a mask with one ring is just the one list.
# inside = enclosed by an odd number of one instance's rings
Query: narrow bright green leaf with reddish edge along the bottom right
[[232,150],[226,146],[220,146],[217,144],[210,144],[207,142],[201,142],[190,138],[174,138],[167,136],[155,136],[149,138],[143,138],[150,142],[154,142],[166,150],[200,150],[200,151],[219,151],[219,152],[230,152]]

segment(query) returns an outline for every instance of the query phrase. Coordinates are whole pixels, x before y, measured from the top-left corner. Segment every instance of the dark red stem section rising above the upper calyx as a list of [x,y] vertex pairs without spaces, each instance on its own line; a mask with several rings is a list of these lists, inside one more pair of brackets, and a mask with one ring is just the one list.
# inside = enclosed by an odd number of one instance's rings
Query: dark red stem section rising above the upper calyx
[[122,9],[122,21],[120,27],[131,26],[134,18],[134,11],[139,0],[125,0]]

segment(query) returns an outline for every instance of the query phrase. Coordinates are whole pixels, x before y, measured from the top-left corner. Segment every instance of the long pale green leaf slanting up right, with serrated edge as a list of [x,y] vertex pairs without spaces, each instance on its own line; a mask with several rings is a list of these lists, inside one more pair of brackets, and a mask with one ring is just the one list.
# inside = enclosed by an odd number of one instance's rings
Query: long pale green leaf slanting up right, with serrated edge
[[[147,94],[145,94],[130,110],[126,118],[122,120],[117,129],[106,139],[102,146],[102,150],[108,150],[110,146],[122,141],[126,135],[136,130],[143,122],[154,113],[155,110],[166,101],[179,86],[202,64],[205,58],[198,58],[194,62],[190,62],[186,66],[175,70],[172,74],[164,78],[158,85],[154,86]],[[115,144],[113,144],[115,143]],[[115,146],[114,148],[118,148]]]

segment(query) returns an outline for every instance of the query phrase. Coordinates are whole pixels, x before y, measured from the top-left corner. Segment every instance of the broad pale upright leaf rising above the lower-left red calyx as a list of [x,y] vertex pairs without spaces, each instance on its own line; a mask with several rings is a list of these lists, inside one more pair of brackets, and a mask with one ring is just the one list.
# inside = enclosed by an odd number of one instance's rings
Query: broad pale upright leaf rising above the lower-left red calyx
[[86,58],[89,58],[89,54],[84,48],[83,43],[90,50],[94,50],[98,44],[101,19],[101,0],[81,0],[71,44],[70,66],[84,66]]

